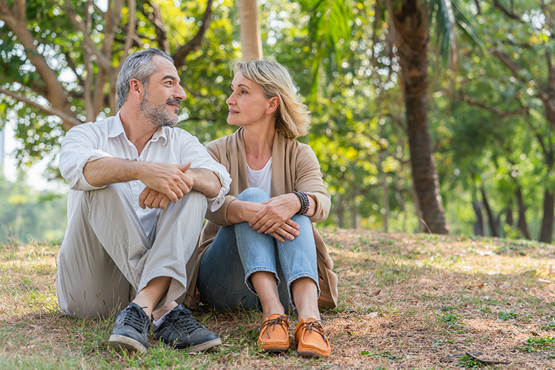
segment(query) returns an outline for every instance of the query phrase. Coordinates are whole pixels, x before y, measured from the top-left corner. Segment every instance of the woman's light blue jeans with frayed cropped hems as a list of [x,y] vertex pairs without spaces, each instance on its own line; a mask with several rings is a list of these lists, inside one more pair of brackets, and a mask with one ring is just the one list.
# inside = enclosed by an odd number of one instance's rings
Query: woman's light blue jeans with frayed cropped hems
[[[237,199],[264,202],[269,197],[258,188],[248,188]],[[306,216],[295,215],[292,219],[300,226],[299,236],[283,243],[271,235],[259,234],[248,222],[221,227],[200,261],[197,281],[200,295],[219,308],[260,310],[260,300],[249,277],[253,272],[266,271],[276,276],[279,299],[286,311],[295,308],[291,283],[296,279],[311,278],[319,296],[312,223]]]

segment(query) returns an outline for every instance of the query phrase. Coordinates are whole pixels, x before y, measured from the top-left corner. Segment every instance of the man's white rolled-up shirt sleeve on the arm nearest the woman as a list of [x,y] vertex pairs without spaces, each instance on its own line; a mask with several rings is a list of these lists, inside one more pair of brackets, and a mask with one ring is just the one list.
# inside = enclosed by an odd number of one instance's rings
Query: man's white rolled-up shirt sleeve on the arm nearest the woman
[[200,144],[198,138],[189,133],[186,134],[186,139],[182,140],[182,163],[185,164],[188,161],[191,161],[191,168],[211,170],[220,179],[221,188],[218,195],[214,198],[207,198],[210,212],[217,211],[223,205],[225,195],[229,193],[231,177],[228,171],[223,165],[214,161],[206,148]]

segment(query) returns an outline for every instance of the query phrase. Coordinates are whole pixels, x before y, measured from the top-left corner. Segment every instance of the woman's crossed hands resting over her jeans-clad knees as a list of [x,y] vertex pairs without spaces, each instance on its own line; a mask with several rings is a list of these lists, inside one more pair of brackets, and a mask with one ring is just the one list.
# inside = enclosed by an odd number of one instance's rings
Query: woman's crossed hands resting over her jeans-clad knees
[[[282,228],[291,234],[290,231],[293,231],[291,228],[294,228],[295,231],[299,229],[299,225],[290,220],[301,209],[301,201],[296,194],[278,195],[260,203],[260,205],[263,205],[262,209],[249,221],[249,225],[254,230],[260,233],[272,234],[272,232]],[[297,235],[298,231],[295,236]]]

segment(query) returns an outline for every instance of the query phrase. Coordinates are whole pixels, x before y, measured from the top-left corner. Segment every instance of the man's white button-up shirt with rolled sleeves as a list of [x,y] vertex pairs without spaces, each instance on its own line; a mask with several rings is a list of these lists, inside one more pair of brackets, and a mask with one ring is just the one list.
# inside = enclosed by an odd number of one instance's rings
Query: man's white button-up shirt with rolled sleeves
[[[216,198],[208,199],[208,207],[212,212],[221,207],[231,184],[231,177],[225,167],[214,161],[195,136],[181,128],[158,128],[139,155],[137,148],[125,134],[118,112],[115,117],[75,126],[64,137],[59,169],[64,179],[70,182],[68,223],[71,223],[71,217],[81,191],[99,189],[99,187],[89,184],[84,178],[84,165],[106,157],[174,164],[186,164],[191,161],[191,168],[211,170],[221,182],[221,188]],[[154,225],[158,209],[139,207],[139,195],[145,189],[145,184],[139,180],[133,180],[126,182],[126,186],[131,189],[135,212],[148,233]]]

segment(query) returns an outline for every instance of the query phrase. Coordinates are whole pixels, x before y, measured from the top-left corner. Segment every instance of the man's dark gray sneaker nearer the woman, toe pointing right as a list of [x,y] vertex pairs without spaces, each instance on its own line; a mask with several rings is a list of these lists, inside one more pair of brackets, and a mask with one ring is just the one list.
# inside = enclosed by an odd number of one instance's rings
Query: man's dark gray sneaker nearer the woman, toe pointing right
[[154,325],[154,337],[173,348],[191,353],[220,346],[219,336],[200,325],[183,304],[172,309],[162,323]]

